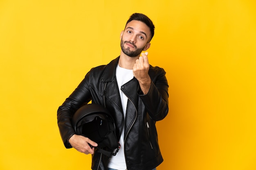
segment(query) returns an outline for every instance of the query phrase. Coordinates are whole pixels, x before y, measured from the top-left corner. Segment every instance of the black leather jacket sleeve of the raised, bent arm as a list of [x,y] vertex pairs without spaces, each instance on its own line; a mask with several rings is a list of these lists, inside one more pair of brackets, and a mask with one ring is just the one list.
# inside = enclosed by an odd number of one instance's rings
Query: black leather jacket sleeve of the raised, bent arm
[[164,69],[158,67],[155,76],[152,76],[149,72],[151,78],[150,89],[146,95],[139,93],[149,116],[155,121],[164,119],[168,113],[169,86],[165,74]]

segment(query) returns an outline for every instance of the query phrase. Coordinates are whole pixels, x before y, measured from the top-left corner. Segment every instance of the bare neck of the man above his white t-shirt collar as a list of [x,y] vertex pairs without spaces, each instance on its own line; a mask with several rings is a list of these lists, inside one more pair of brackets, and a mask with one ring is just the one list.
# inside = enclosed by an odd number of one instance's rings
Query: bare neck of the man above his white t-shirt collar
[[129,57],[128,55],[124,54],[123,51],[121,51],[118,64],[119,64],[119,66],[121,68],[132,70],[133,65],[136,63],[136,60],[138,58],[139,58],[139,56],[137,56],[137,57]]

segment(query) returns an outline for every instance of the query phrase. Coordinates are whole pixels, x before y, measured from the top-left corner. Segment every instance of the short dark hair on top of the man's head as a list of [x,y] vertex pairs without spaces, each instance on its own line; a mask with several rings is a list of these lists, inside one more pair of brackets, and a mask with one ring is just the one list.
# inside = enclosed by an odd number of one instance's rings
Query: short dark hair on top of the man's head
[[[151,38],[149,39],[149,41],[151,41],[151,39],[153,38],[154,34],[155,34],[155,26],[153,24],[153,22],[149,19],[149,17],[147,17],[146,15],[142,14],[142,13],[133,13],[129,20],[126,22],[126,25],[131,22],[132,20],[137,20],[137,21],[141,21],[144,22],[150,29],[150,33],[151,33]],[[126,27],[125,25],[125,27]]]

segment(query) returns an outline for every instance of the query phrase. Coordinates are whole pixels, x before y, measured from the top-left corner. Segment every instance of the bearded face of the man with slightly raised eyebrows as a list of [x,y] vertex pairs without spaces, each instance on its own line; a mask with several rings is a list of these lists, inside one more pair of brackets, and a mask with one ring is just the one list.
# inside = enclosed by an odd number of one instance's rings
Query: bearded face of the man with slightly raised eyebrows
[[150,29],[141,21],[132,20],[121,32],[121,50],[129,57],[137,57],[150,47]]

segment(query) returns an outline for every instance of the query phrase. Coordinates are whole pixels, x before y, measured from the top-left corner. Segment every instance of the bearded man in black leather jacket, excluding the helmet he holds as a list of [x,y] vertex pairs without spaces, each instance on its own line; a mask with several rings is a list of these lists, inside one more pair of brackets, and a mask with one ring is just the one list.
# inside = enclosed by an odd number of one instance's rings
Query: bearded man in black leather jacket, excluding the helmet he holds
[[[155,122],[168,113],[166,72],[149,65],[148,53],[141,53],[150,48],[154,29],[146,15],[132,14],[121,31],[120,56],[108,65],[92,68],[58,109],[65,147],[92,154],[92,170],[152,170],[163,161]],[[116,156],[98,153],[97,143],[76,135],[73,129],[72,116],[90,100],[106,107],[115,119],[121,144]]]

